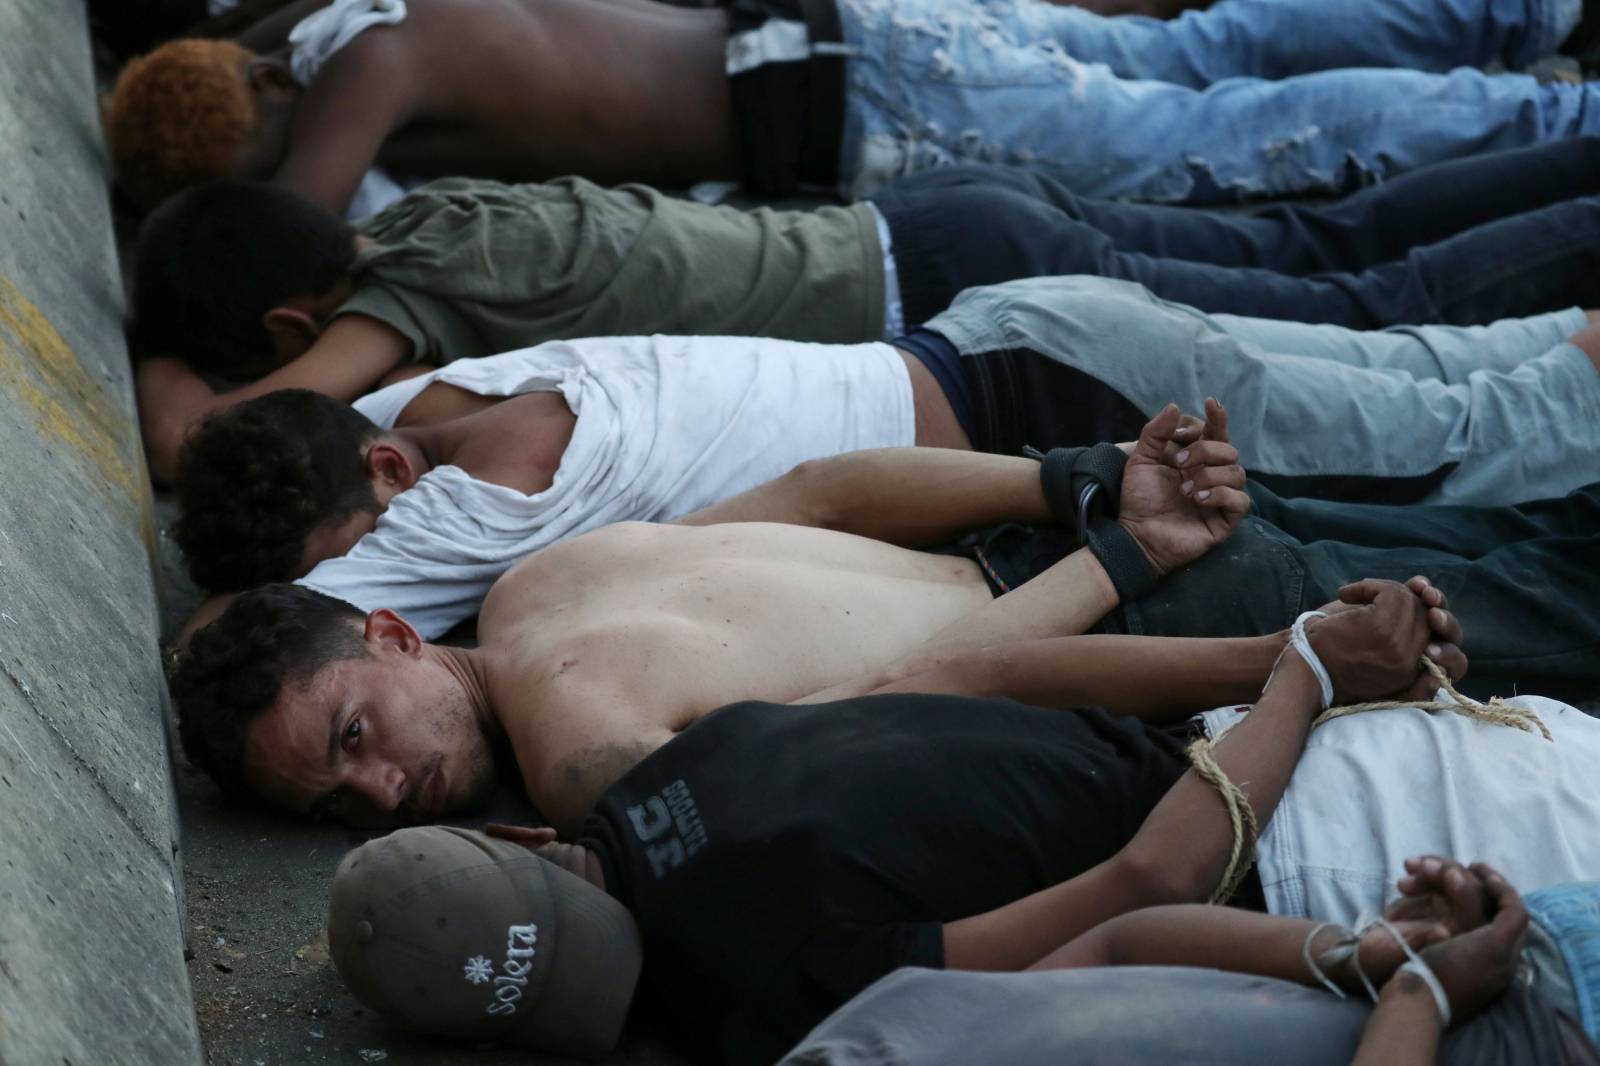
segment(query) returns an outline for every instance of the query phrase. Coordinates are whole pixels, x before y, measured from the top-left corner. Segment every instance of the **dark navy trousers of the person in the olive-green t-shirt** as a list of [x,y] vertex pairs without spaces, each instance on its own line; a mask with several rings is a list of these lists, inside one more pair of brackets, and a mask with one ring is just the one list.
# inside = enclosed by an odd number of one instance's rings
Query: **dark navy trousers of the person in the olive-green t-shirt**
[[[1578,147],[1584,157],[1597,155],[1592,139],[1549,147]],[[1566,190],[1594,190],[1600,186],[1600,160],[1590,162],[1595,166],[1586,181],[1558,184]],[[1502,173],[1504,166],[1494,170]],[[1405,182],[1402,178],[1363,194],[1365,206],[1344,218],[1360,214],[1371,229],[1379,229],[1381,218],[1395,214],[1386,190]],[[1486,195],[1474,182],[1467,189],[1475,197]],[[1400,194],[1413,198],[1406,189]],[[1451,195],[1451,186],[1440,184],[1435,198],[1448,203]],[[1411,248],[1394,262],[1323,267],[1330,272],[1312,277],[1280,272],[1275,258],[1282,254],[1290,267],[1307,258],[1333,258],[1299,246],[1312,243],[1301,235],[1318,227],[1315,206],[1285,208],[1262,224],[1194,208],[1082,200],[1046,174],[984,165],[901,178],[878,192],[874,203],[888,219],[899,296],[912,323],[926,322],[963,288],[1051,274],[1138,282],[1163,299],[1200,311],[1357,330],[1435,322],[1477,325],[1558,307],[1600,306],[1600,197],[1488,221]],[[1450,208],[1419,214],[1440,213]],[[1486,208],[1470,205],[1462,213],[1483,216]],[[1102,230],[1099,219],[1117,235]],[[1274,227],[1286,232],[1272,234]],[[1419,219],[1413,229],[1430,234],[1437,222]],[[1208,246],[1205,237],[1214,243]],[[1170,246],[1181,248],[1184,258],[1170,256]],[[1213,266],[1210,248],[1234,259],[1248,258],[1246,248],[1256,254],[1248,264]]]

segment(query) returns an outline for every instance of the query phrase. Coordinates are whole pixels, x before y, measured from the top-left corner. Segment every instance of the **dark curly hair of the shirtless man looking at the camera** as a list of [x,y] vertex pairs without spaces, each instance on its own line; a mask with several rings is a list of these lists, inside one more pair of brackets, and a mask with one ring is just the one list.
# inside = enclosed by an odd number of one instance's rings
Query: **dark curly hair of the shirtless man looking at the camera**
[[178,706],[184,754],[232,797],[245,783],[245,731],[278,701],[285,685],[366,655],[362,611],[298,584],[243,592],[197,632],[168,687]]

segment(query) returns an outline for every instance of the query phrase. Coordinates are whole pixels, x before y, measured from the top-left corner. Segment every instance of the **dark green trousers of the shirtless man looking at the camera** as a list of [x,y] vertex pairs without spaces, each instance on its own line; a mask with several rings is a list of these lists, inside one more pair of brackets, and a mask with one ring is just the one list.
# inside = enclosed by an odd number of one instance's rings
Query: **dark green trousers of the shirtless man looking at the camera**
[[1477,698],[1587,699],[1600,685],[1600,483],[1517,507],[1282,499],[1101,623],[1104,632],[1235,637],[1285,629],[1360,578],[1429,576],[1461,619]]

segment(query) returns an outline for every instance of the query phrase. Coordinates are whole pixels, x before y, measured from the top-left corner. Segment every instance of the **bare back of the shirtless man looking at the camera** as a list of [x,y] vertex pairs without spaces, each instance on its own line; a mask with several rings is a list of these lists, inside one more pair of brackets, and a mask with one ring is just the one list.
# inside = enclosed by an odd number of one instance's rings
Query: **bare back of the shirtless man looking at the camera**
[[880,671],[989,603],[968,559],[794,525],[622,523],[510,570],[478,639],[528,794],[560,824],[702,714]]

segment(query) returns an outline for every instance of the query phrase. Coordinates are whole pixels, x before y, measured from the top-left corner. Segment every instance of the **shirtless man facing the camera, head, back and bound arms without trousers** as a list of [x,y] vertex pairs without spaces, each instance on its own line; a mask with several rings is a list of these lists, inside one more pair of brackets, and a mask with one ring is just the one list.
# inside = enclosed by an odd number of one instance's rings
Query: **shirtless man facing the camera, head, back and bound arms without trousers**
[[[571,826],[643,754],[731,699],[794,701],[907,659],[1083,632],[1117,605],[1114,575],[1147,584],[1243,517],[1245,477],[1221,419],[1214,410],[1213,439],[1178,464],[1179,415],[1163,411],[1128,459],[1118,519],[1083,512],[1091,547],[998,600],[971,559],[741,522],[742,498],[696,525],[610,525],[530,555],[494,584],[472,650],[427,643],[392,610],[363,618],[296,586],[256,589],[181,658],[184,746],[230,791],[381,823],[482,802],[504,739],[530,799]],[[933,469],[904,487],[907,501],[949,480],[942,455],[926,453]],[[925,509],[885,499],[878,531],[941,539],[1050,520],[1040,467],[995,463],[965,514],[936,515],[954,528],[928,528]],[[1184,495],[1186,480],[1206,499]],[[1224,671],[1219,690],[1186,699],[1226,703],[1232,680]]]

